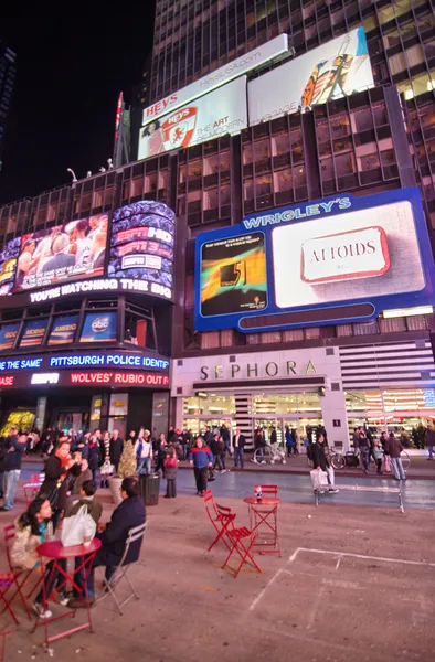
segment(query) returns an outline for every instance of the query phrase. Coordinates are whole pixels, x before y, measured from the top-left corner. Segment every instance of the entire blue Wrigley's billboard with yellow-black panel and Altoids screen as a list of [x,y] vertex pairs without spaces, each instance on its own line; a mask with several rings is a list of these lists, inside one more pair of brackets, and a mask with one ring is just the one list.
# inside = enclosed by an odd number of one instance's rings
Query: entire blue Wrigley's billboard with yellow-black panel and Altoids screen
[[369,321],[433,303],[433,260],[417,189],[282,207],[203,233],[195,329]]

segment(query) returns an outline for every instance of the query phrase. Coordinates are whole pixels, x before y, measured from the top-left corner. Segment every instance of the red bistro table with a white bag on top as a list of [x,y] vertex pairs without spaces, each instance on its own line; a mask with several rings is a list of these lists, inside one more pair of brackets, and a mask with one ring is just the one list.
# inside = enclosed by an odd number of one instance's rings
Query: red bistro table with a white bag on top
[[[91,545],[74,545],[72,547],[64,547],[61,543],[61,541],[49,541],[47,543],[42,543],[42,545],[40,545],[36,548],[38,554],[45,559],[50,559],[53,560],[53,567],[50,570],[50,574],[46,575],[46,573],[43,575],[42,578],[42,590],[43,590],[43,598],[42,598],[42,604],[43,606],[46,608],[46,602],[47,599],[50,598],[49,595],[46,595],[46,588],[47,586],[52,586],[52,580],[55,576],[55,574],[60,574],[63,576],[64,580],[61,581],[57,585],[57,590],[65,588],[66,584],[70,581],[72,587],[75,588],[79,594],[82,591],[84,591],[85,594],[85,600],[87,602],[87,621],[85,623],[82,623],[81,626],[76,626],[75,628],[71,628],[70,630],[65,630],[64,632],[59,632],[57,634],[53,634],[52,637],[49,636],[49,626],[50,623],[54,623],[57,620],[61,620],[63,618],[67,618],[68,616],[75,616],[76,609],[70,609],[70,611],[66,611],[65,613],[62,613],[61,616],[55,616],[54,618],[46,618],[46,619],[41,619],[40,617],[36,618],[36,622],[34,624],[33,628],[33,632],[35,631],[35,629],[39,626],[45,626],[45,645],[47,645],[49,643],[51,643],[52,641],[56,641],[57,639],[62,639],[62,637],[68,637],[70,634],[73,634],[74,632],[79,632],[79,630],[85,630],[86,628],[89,628],[91,632],[93,631],[92,629],[92,621],[91,621],[91,605],[89,605],[89,598],[87,596],[87,583],[86,583],[86,578],[87,578],[87,574],[89,573],[93,563],[94,563],[94,558],[96,553],[98,552],[99,547],[102,546],[102,541],[99,541],[98,538],[94,538],[91,542]],[[62,559],[67,560],[68,558],[82,558],[81,563],[78,564],[77,568],[73,568],[71,570],[71,573],[68,574],[67,568],[66,570],[64,570],[60,565],[59,562]],[[46,564],[46,560],[45,560]],[[41,564],[42,567],[42,564]],[[77,575],[77,573],[83,574],[83,588],[81,586],[77,585],[77,583],[75,581],[75,575]],[[43,621],[43,622],[41,622]]]

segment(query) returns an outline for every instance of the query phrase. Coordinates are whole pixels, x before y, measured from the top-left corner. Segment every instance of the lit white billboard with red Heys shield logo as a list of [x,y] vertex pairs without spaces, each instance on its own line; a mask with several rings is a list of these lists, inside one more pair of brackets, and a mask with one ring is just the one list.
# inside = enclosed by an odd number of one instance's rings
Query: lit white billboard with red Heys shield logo
[[140,129],[138,159],[192,147],[247,127],[246,76],[210,92]]

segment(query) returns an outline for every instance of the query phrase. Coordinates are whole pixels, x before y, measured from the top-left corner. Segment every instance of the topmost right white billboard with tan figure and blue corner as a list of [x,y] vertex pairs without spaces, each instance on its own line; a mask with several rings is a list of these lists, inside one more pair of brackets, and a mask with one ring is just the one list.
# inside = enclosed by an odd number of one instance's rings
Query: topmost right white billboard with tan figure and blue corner
[[373,86],[364,29],[357,28],[251,81],[250,126]]

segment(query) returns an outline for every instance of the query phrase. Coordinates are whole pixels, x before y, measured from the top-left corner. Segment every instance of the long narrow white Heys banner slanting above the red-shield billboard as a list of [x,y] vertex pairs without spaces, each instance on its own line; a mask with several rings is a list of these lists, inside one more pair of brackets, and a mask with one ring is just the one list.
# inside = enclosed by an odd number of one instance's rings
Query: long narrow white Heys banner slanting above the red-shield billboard
[[157,119],[167,113],[176,110],[176,108],[180,108],[180,106],[185,106],[185,104],[189,104],[199,96],[202,96],[212,89],[216,89],[216,87],[220,87],[225,83],[230,83],[230,81],[233,81],[237,76],[242,76],[265,62],[275,60],[287,51],[287,34],[275,36],[275,39],[272,39],[265,44],[250,51],[250,53],[245,53],[245,55],[233,60],[233,62],[229,62],[208,76],[194,81],[191,85],[187,85],[178,92],[160,99],[160,102],[152,104],[152,106],[148,106],[148,108],[144,109],[142,125],[148,124],[151,119]]

